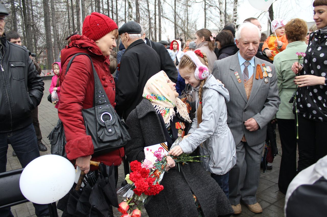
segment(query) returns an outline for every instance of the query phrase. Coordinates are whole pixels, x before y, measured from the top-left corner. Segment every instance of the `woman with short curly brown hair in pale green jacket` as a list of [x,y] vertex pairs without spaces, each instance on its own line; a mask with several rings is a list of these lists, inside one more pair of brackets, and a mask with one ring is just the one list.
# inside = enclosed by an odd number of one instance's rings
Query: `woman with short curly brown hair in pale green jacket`
[[[294,73],[291,66],[298,61],[296,52],[305,52],[305,36],[307,24],[304,20],[293,19],[285,25],[286,39],[289,44],[286,49],[278,53],[274,58],[274,66],[277,74],[278,94],[281,104],[276,114],[278,131],[282,144],[282,160],[279,170],[278,187],[286,194],[289,183],[296,176],[296,131],[292,104],[292,97],[296,85],[294,85]],[[301,63],[303,59],[301,60]]]

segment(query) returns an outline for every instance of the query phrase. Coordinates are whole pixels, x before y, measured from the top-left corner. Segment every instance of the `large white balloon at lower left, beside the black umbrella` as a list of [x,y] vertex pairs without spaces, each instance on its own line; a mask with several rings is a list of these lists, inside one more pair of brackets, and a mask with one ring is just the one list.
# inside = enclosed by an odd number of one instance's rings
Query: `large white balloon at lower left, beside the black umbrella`
[[48,154],[34,159],[24,168],[19,186],[29,201],[49,204],[66,195],[74,181],[73,164],[64,157]]

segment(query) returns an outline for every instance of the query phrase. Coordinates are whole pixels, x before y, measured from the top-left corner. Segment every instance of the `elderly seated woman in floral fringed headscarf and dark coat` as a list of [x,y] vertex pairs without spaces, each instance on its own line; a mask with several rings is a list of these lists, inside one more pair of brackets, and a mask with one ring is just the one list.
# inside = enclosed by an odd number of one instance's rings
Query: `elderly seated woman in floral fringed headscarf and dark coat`
[[[144,99],[129,114],[126,122],[132,138],[125,147],[129,162],[144,160],[146,146],[167,142],[170,149],[181,133],[178,126],[184,123],[183,130],[186,131],[191,123],[190,104],[186,98],[178,98],[175,85],[164,71],[147,81]],[[170,156],[167,163],[166,170],[169,172],[164,174],[161,182],[163,191],[153,196],[145,206],[150,217],[211,217],[233,213],[226,195],[200,162],[184,164],[180,166],[180,171]]]

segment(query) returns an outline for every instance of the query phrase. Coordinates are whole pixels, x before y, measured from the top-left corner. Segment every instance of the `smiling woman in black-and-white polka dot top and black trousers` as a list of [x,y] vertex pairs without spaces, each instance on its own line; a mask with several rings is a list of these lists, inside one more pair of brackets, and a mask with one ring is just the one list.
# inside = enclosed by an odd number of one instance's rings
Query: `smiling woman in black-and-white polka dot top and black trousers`
[[327,0],[313,2],[318,31],[310,34],[303,65],[292,65],[298,111],[298,172],[327,154]]

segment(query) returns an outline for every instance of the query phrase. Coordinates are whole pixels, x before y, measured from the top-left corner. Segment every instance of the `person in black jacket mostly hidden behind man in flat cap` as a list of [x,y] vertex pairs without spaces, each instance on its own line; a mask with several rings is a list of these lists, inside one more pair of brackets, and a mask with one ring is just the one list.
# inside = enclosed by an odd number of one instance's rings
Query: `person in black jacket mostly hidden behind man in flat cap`
[[163,44],[158,43],[158,42],[153,42],[150,41],[150,39],[148,39],[145,35],[145,31],[143,26],[140,24],[141,26],[141,36],[143,37],[144,42],[150,46],[151,48],[153,48],[153,50],[155,50],[160,58],[160,70],[163,70],[168,78],[176,83],[177,82],[177,68],[176,65],[174,64],[174,62],[172,61],[167,49],[164,47]]

